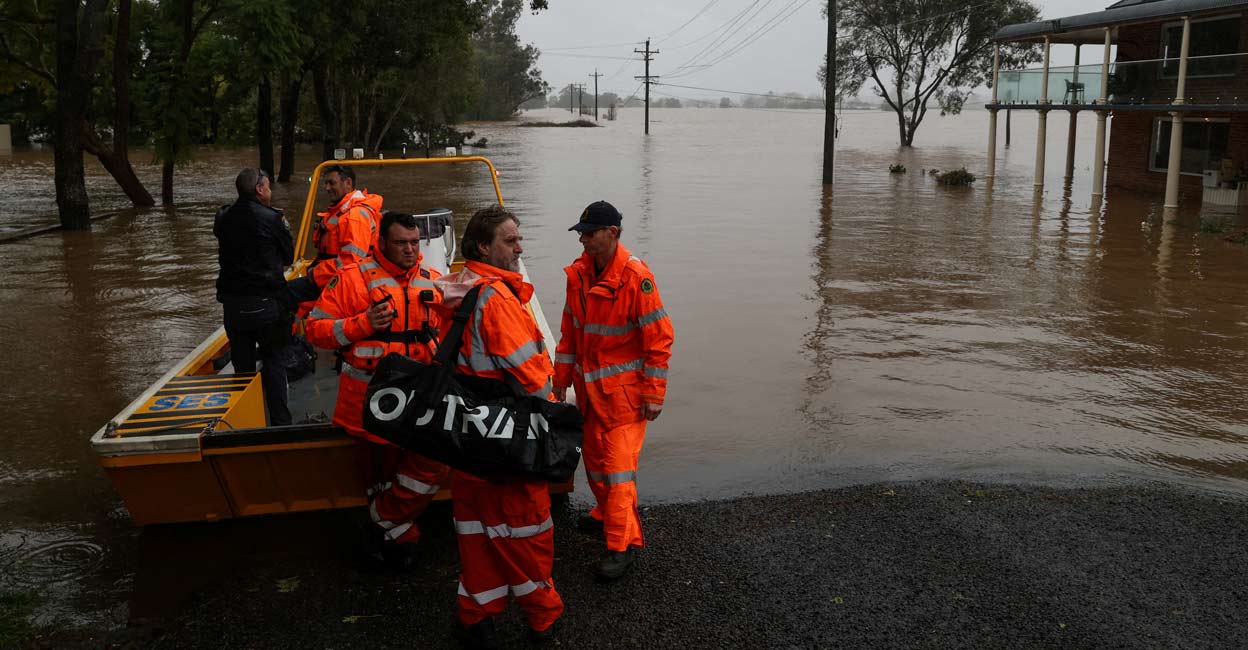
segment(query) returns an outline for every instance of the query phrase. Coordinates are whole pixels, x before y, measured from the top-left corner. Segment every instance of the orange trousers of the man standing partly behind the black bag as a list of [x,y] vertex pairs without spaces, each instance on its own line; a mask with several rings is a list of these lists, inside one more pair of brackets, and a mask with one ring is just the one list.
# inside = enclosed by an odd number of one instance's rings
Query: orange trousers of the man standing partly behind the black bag
[[359,440],[357,458],[368,485],[368,517],[397,544],[416,544],[416,519],[447,483],[449,468],[392,444]]

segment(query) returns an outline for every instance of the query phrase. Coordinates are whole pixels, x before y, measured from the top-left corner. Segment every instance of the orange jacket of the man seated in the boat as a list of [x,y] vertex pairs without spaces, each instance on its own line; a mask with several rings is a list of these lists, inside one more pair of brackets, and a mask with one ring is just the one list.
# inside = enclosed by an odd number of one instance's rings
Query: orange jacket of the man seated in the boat
[[308,274],[317,287],[348,264],[358,264],[377,248],[377,227],[382,222],[382,196],[356,190],[324,212],[317,212],[312,242],[317,263]]

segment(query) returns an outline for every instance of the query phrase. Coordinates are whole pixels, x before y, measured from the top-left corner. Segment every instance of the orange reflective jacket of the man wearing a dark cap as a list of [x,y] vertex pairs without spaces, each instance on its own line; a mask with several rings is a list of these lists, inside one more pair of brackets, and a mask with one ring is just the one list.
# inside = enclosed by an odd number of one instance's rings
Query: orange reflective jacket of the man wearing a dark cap
[[663,404],[671,357],[671,319],[645,262],[617,245],[599,276],[582,255],[568,274],[554,384],[574,386],[582,412],[607,427],[643,418],[641,403]]

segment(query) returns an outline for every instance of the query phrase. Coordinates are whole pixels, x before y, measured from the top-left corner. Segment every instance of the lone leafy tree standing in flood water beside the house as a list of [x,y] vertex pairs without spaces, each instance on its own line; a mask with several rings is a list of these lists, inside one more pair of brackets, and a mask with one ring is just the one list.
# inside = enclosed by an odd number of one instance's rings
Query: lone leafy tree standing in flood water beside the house
[[[971,6],[955,0],[837,0],[837,32],[844,36],[837,36],[836,95],[855,95],[870,81],[897,114],[897,137],[909,147],[929,101],[936,101],[941,115],[956,115],[971,89],[991,82],[992,35],[1038,17],[1040,9],[1028,0]],[[1033,45],[1001,45],[1002,67],[1038,57]]]

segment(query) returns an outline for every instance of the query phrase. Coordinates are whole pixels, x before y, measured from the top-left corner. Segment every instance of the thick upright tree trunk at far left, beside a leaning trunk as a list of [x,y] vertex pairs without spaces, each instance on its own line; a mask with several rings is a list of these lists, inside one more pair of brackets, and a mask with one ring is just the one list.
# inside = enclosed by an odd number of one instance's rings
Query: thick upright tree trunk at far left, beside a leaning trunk
[[91,205],[82,168],[82,130],[95,65],[102,54],[106,0],[90,0],[79,24],[79,0],[56,2],[56,206],[61,226],[91,227]]

